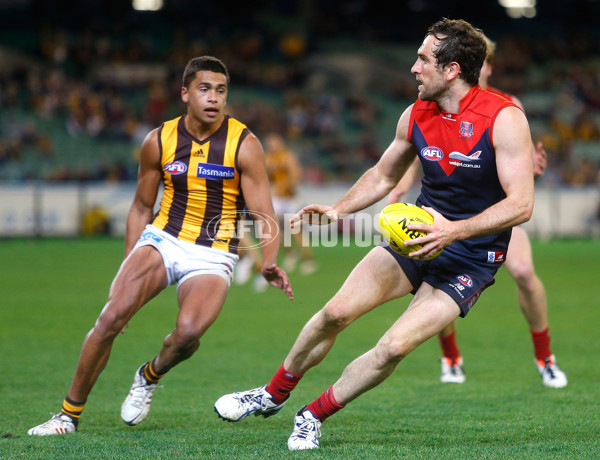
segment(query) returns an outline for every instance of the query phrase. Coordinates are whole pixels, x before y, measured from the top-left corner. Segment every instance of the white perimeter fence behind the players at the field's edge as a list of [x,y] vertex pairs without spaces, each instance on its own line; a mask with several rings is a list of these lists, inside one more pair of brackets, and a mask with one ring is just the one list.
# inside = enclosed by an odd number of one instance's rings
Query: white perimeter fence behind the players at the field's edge
[[[333,204],[349,184],[303,185],[297,208],[311,203]],[[0,237],[77,236],[82,218],[94,207],[110,220],[110,233],[125,233],[135,184],[49,185],[46,183],[0,184]],[[403,201],[414,202],[417,190]],[[159,194],[160,199],[161,193]],[[365,212],[376,216],[385,200]],[[532,219],[524,224],[534,238],[598,237],[600,235],[600,189],[538,188]],[[351,219],[351,217],[350,217]]]

